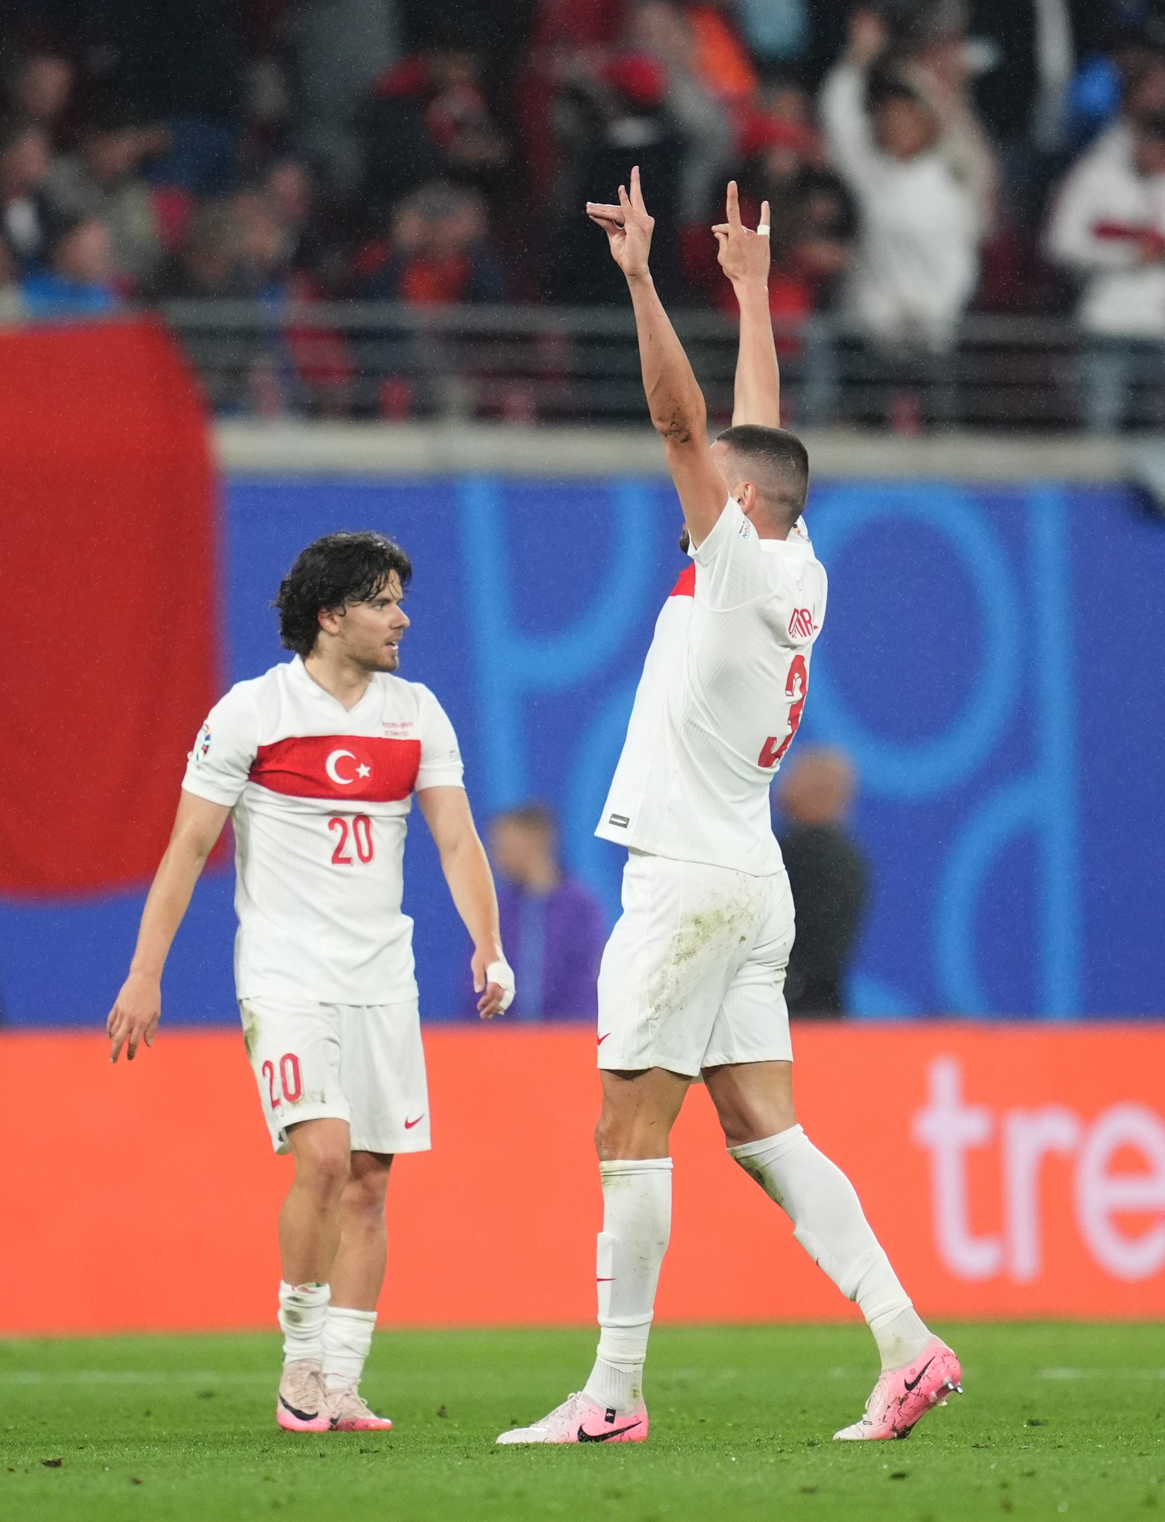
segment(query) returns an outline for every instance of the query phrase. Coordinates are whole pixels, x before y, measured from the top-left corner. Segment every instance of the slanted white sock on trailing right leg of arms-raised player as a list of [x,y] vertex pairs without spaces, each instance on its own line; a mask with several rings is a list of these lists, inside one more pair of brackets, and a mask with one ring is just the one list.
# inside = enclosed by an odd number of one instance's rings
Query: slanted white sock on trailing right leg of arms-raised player
[[882,1368],[902,1368],[930,1333],[870,1230],[850,1180],[818,1152],[801,1126],[729,1146],[793,1222],[793,1236],[847,1300],[856,1300],[877,1341]]

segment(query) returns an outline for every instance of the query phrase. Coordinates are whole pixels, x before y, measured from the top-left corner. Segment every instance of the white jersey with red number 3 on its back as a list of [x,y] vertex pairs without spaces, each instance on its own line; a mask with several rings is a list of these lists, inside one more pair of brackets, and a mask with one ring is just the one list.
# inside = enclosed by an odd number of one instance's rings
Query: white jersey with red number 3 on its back
[[825,571],[798,521],[761,539],[731,498],[664,604],[603,819],[603,840],[777,872],[769,785],[796,734]]

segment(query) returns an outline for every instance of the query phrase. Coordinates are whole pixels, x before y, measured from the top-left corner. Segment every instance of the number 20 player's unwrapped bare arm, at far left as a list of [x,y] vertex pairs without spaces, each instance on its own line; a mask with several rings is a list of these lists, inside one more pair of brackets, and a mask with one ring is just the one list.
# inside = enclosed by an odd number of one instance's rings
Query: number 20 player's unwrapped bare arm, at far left
[[230,808],[222,804],[195,798],[193,793],[181,794],[171,843],[154,874],[142,912],[129,977],[122,983],[105,1026],[113,1043],[111,1062],[122,1055],[122,1047],[132,1062],[143,1041],[154,1046],[154,1032],[161,1018],[161,970],[190,906],[195,883],[222,834],[227,814]]

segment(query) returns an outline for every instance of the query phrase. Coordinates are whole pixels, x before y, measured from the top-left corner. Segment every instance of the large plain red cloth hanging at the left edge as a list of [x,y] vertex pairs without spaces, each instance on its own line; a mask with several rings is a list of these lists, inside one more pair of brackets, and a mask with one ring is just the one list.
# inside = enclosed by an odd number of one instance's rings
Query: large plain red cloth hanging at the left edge
[[0,890],[158,864],[218,696],[203,403],[152,323],[0,332]]

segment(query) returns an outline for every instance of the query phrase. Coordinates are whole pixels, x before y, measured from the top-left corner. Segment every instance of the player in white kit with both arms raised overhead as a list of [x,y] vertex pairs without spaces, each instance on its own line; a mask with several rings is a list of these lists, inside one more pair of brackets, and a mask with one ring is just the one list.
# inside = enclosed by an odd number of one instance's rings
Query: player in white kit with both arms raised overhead
[[598,974],[598,1358],[579,1394],[498,1441],[647,1437],[643,1364],[672,1224],[669,1134],[701,1075],[729,1155],[792,1218],[877,1341],[882,1377],[865,1417],[835,1435],[905,1437],[958,1387],[958,1361],[915,1313],[853,1186],[793,1111],[781,989],[793,904],[769,784],[806,705],[825,572],[801,519],[806,451],[780,426],[768,205],[757,231],[745,228],[731,186],[728,221],[714,228],[740,304],[740,355],[733,426],[710,447],[704,397],[652,285],[638,170],[618,201],[586,212],[627,280],[693,563],[655,626],[597,831],[630,852]]

